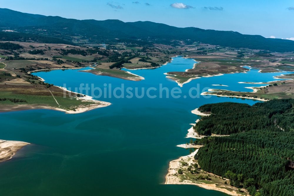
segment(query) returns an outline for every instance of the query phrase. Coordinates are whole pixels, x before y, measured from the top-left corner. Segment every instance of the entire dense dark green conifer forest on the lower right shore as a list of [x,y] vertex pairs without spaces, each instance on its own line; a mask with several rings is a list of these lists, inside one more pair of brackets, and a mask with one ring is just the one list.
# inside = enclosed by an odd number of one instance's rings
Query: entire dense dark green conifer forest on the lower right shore
[[208,121],[202,129],[235,127],[230,136],[200,140],[205,145],[195,158],[203,170],[229,178],[232,186],[245,187],[250,195],[294,195],[294,168],[289,166],[294,161],[294,99],[253,106],[206,104],[201,109],[213,113],[202,117],[200,122]]

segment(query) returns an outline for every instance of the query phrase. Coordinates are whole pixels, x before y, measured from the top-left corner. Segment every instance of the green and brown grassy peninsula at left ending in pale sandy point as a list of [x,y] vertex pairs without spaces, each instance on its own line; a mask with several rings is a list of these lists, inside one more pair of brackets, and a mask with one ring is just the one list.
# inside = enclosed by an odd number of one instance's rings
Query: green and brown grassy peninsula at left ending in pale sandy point
[[[78,114],[111,105],[111,103],[98,101],[90,96],[76,92],[71,92],[67,95],[67,92],[70,91],[63,87],[44,83],[44,79],[40,77],[32,76],[31,78],[32,80],[28,79],[27,82],[22,78],[16,77],[14,79],[12,77],[9,81],[4,81],[0,84],[0,112],[52,109],[66,114]],[[34,84],[35,82],[39,84]]]

